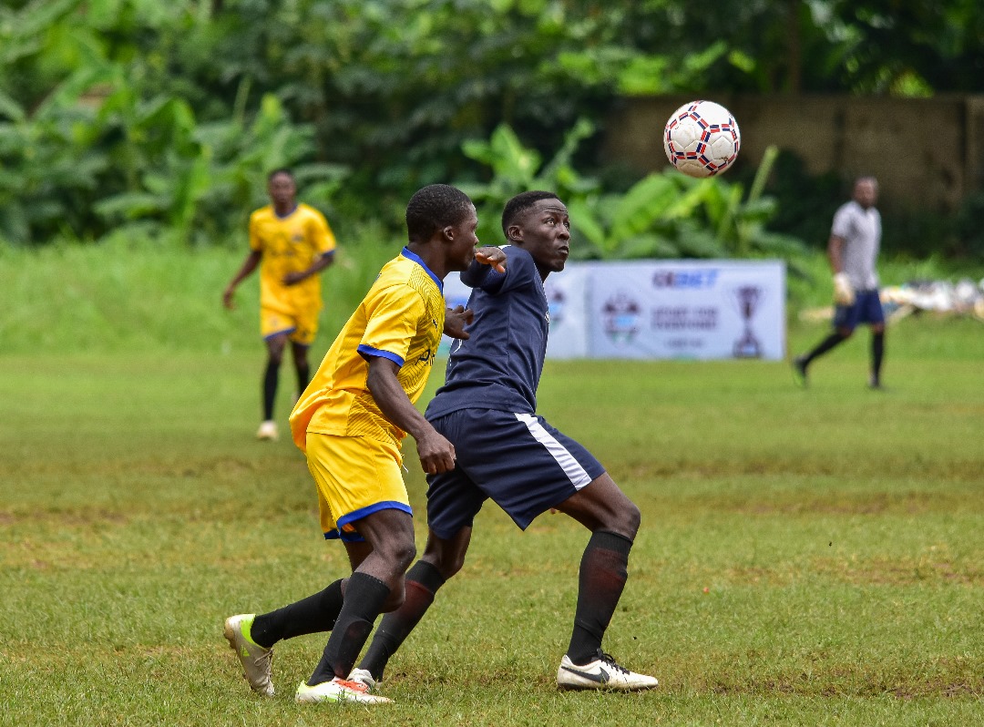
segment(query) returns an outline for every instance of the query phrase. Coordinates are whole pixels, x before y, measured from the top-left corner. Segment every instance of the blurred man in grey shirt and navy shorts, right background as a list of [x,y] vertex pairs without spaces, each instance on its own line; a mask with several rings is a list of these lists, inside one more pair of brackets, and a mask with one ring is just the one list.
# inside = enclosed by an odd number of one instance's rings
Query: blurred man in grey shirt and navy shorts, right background
[[882,388],[885,357],[885,313],[878,291],[875,260],[882,240],[882,217],[875,209],[878,181],[859,177],[850,202],[833,215],[827,254],[833,271],[833,331],[812,351],[793,359],[793,372],[802,386],[815,358],[830,351],[854,333],[858,324],[871,327],[871,376],[868,386]]

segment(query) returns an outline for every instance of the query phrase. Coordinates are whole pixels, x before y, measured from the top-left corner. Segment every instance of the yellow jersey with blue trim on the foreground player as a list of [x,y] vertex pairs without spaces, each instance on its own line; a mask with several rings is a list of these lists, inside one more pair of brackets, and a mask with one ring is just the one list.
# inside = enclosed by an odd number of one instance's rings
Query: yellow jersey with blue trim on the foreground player
[[383,267],[290,413],[294,444],[305,451],[307,433],[315,432],[399,447],[406,432],[383,416],[370,394],[368,358],[399,364],[397,381],[416,402],[434,367],[445,310],[442,280],[404,247]]

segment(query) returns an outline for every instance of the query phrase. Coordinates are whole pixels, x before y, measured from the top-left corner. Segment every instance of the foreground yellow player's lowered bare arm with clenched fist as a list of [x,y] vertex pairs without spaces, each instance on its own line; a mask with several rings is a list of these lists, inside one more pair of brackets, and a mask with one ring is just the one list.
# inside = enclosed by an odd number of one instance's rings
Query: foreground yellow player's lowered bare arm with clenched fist
[[455,447],[438,434],[410,401],[397,381],[400,366],[383,356],[369,356],[366,386],[383,416],[407,432],[417,443],[420,466],[428,474],[455,468]]

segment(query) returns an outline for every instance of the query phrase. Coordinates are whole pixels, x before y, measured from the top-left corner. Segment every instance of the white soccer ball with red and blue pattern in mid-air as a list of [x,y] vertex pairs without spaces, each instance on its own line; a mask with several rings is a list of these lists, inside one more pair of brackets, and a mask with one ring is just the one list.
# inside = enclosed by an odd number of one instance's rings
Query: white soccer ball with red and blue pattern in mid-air
[[719,103],[691,101],[670,116],[663,131],[663,151],[690,177],[720,174],[734,163],[741,133],[734,116]]

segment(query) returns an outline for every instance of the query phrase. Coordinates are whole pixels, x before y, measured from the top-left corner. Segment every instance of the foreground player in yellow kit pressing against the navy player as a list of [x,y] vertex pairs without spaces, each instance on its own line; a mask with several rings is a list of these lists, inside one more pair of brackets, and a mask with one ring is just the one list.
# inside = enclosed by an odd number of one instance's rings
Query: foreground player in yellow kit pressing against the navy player
[[403,575],[416,554],[400,474],[403,438],[408,433],[416,441],[425,472],[455,467],[455,448],[414,402],[441,334],[467,335],[462,319],[469,312],[445,308],[445,275],[473,259],[505,271],[502,250],[475,249],[477,224],[474,206],[455,187],[434,184],[413,195],[406,207],[408,244],[379,273],[290,415],[294,442],[317,484],[322,530],[344,544],[352,574],[276,611],[226,619],[225,637],[254,692],[274,694],[277,641],[331,631],[296,700],[390,701],[348,676],[376,618],[402,603]]

